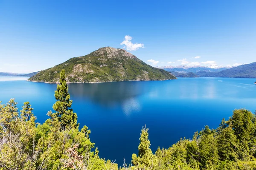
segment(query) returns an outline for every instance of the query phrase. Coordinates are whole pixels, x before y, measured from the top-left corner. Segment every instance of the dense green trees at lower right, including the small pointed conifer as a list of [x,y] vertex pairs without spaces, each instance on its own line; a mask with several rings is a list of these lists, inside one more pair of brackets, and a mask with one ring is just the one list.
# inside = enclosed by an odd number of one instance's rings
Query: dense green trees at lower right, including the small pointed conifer
[[[148,167],[139,157],[132,156],[132,165],[123,170],[255,170],[256,117],[250,111],[238,109],[228,121],[222,119],[219,127],[205,126],[193,139],[180,139],[168,149],[158,147],[154,156],[156,166]],[[143,127],[140,145],[149,148],[148,129]],[[143,140],[141,140],[143,139]],[[140,146],[139,145],[139,146]],[[144,152],[147,153],[147,152]],[[148,152],[150,153],[150,152]],[[140,147],[139,147],[140,155]],[[151,156],[151,162],[155,157]],[[149,157],[149,156],[148,156]],[[147,158],[148,158],[147,157]],[[135,161],[134,161],[135,160]],[[150,160],[147,160],[150,162]]]

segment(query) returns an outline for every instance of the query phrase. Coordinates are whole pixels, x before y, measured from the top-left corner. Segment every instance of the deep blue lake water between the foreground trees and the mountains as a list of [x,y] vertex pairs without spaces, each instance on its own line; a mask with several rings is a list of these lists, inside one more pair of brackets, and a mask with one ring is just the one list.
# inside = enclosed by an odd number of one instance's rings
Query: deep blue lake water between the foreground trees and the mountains
[[[10,81],[6,81],[10,80]],[[236,108],[256,109],[256,79],[179,78],[167,81],[128,81],[69,84],[80,127],[87,125],[99,155],[119,165],[137,153],[140,130],[149,127],[151,149],[192,138],[205,125],[216,128]],[[48,119],[56,84],[0,77],[0,101],[29,101],[37,121]]]

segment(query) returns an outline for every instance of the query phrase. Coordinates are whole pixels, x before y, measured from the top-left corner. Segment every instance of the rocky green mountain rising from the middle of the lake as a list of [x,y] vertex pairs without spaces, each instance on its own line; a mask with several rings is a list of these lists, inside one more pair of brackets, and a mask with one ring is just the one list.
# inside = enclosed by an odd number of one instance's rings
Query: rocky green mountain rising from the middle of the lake
[[99,48],[92,53],[40,71],[30,81],[59,82],[61,69],[66,70],[67,82],[111,82],[126,80],[176,79],[163,69],[147,65],[124,49]]

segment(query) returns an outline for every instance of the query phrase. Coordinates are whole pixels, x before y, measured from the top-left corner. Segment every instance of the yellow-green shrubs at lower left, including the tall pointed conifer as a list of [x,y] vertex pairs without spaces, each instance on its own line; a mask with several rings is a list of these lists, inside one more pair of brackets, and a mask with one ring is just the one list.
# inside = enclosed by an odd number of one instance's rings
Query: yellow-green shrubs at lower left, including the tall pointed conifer
[[117,170],[117,164],[99,158],[99,151],[91,149],[90,130],[79,131],[76,113],[70,109],[66,77],[61,71],[60,85],[55,91],[56,113],[50,119],[35,123],[29,102],[18,112],[11,99],[0,105],[0,170]]

